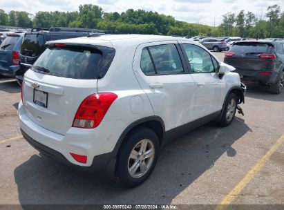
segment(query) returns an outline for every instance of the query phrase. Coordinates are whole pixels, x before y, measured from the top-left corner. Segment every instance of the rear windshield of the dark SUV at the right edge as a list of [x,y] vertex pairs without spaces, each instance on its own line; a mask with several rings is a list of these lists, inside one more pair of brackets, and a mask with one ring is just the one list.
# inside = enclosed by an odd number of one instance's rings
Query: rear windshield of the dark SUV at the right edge
[[271,44],[265,44],[265,43],[236,43],[234,46],[231,47],[229,52],[233,52],[236,55],[245,55],[249,53],[267,53],[272,54],[274,53],[274,48]]

